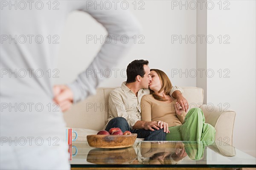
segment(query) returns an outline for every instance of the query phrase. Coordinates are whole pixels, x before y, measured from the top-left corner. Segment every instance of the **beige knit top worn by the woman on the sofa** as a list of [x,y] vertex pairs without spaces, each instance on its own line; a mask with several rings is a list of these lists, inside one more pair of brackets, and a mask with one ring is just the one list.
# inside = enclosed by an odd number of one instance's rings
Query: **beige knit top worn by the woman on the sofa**
[[175,112],[176,99],[171,103],[154,99],[152,94],[148,94],[141,99],[141,118],[143,121],[163,121],[169,127],[182,125],[184,116],[178,116]]

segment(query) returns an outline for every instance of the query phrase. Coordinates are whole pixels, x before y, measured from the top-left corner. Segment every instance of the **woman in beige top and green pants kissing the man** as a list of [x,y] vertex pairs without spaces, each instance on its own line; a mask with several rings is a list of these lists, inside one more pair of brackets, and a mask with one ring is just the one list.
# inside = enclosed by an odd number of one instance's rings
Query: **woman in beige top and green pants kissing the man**
[[169,141],[215,141],[215,129],[205,123],[204,113],[200,108],[192,108],[185,115],[181,106],[169,95],[172,83],[167,75],[158,69],[151,69],[149,83],[150,95],[141,99],[143,121],[156,121],[161,127],[169,127],[166,140]]

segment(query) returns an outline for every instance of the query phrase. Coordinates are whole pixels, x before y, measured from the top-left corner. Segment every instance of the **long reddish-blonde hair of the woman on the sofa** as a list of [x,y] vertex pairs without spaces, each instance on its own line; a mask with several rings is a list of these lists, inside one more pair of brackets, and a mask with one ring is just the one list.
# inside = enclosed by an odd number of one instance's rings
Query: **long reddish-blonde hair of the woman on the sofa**
[[[157,75],[160,78],[162,87],[158,91],[160,93],[161,91],[164,91],[164,94],[170,95],[171,89],[172,89],[172,83],[169,79],[169,77],[165,74],[165,72],[158,70],[158,69],[150,69],[150,71],[155,71]],[[162,96],[159,96],[154,93],[154,91],[150,90],[150,93],[153,95],[154,99],[159,101],[166,101],[167,99],[163,98]]]

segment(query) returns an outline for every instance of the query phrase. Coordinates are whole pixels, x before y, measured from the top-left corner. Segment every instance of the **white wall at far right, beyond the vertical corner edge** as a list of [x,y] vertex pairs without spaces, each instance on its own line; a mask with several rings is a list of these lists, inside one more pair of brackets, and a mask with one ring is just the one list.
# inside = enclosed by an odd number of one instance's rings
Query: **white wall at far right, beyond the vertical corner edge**
[[[217,2],[215,6],[219,7]],[[207,78],[207,102],[236,111],[233,145],[256,156],[255,1],[228,2],[230,10],[207,11],[207,34],[215,37],[212,44],[207,44],[207,69],[215,72]],[[230,43],[220,44],[216,38],[219,35],[222,40],[228,35]],[[225,74],[229,77],[224,78]]]

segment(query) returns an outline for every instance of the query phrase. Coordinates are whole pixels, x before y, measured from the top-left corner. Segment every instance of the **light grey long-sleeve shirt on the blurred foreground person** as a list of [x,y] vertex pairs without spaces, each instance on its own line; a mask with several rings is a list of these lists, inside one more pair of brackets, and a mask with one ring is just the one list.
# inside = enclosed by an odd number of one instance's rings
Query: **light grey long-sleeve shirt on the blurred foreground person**
[[[95,2],[1,0],[1,137],[47,137],[48,134],[62,133],[64,119],[52,102],[52,75],[55,74],[53,70],[60,45],[54,42],[58,42],[70,12],[87,12],[106,28],[110,36],[125,35],[132,39],[139,34],[140,25],[128,10],[114,6],[110,9],[98,6],[95,10],[95,6],[91,6]],[[124,43],[120,38],[104,43],[87,70],[100,72],[100,69],[113,68],[131,44],[132,41]],[[87,74],[86,70],[79,74],[76,81],[68,85],[74,93],[74,102],[94,94],[102,79]]]

